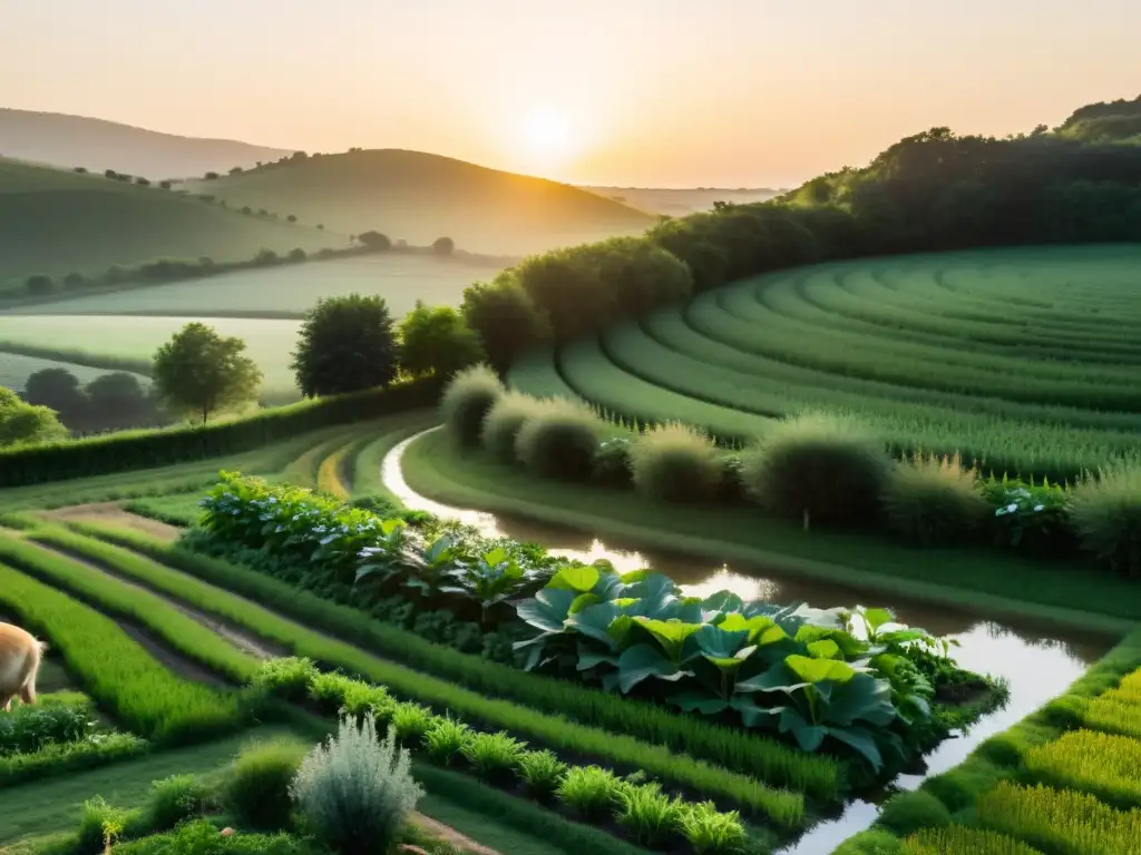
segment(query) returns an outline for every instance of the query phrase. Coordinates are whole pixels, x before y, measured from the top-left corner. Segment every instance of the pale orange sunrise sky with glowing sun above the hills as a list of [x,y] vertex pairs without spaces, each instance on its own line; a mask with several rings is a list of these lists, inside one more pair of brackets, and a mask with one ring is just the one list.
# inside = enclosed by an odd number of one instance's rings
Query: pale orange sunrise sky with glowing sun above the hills
[[0,2],[0,106],[582,184],[792,186],[1141,95],[1133,0]]

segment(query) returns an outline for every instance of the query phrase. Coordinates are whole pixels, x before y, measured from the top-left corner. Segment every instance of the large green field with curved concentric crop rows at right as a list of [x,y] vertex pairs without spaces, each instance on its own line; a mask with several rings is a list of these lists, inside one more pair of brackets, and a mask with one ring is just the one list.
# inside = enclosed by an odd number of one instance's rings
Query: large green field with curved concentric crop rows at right
[[810,409],[897,450],[1071,478],[1134,453],[1141,249],[1085,246],[799,268],[535,353],[511,375],[726,438]]

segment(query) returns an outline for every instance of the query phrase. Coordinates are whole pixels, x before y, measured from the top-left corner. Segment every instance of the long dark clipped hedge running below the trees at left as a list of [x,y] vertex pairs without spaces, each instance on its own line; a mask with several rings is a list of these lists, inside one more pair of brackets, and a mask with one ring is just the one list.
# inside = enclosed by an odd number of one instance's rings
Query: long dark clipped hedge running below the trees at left
[[127,472],[245,451],[333,424],[430,406],[434,378],[301,401],[204,427],[133,431],[67,442],[0,449],[0,487]]

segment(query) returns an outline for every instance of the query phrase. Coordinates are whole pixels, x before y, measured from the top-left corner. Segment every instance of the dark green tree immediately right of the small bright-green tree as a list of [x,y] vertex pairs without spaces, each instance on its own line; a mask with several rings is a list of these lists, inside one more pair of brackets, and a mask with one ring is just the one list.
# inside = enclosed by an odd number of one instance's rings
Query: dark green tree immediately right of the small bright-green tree
[[505,372],[524,351],[551,339],[547,314],[504,270],[492,283],[477,282],[463,292],[463,318],[479,336],[487,361]]

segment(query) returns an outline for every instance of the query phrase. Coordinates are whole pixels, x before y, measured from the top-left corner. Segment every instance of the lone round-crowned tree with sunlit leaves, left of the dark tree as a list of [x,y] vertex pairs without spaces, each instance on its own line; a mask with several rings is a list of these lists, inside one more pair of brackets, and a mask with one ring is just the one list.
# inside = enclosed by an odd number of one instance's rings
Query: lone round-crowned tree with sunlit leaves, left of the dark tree
[[205,424],[211,413],[256,398],[261,372],[244,351],[241,339],[222,337],[199,321],[187,324],[154,355],[155,389],[172,410],[201,414]]

